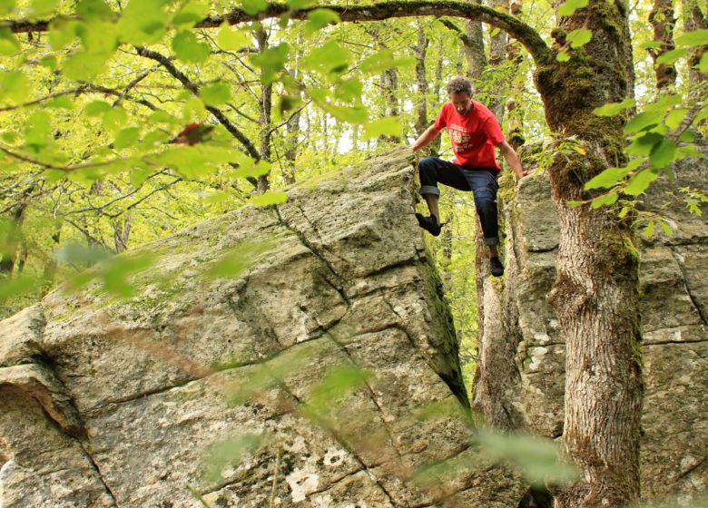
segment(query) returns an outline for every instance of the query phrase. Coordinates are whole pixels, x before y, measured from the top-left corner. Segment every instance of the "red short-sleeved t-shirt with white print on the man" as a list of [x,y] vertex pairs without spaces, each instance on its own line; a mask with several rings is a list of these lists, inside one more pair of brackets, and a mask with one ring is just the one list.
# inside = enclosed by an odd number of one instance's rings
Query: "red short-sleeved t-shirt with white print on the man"
[[452,103],[445,104],[435,120],[438,131],[444,127],[452,138],[455,164],[501,171],[494,148],[504,141],[504,134],[497,117],[484,104],[473,101],[472,109],[465,116],[455,111]]

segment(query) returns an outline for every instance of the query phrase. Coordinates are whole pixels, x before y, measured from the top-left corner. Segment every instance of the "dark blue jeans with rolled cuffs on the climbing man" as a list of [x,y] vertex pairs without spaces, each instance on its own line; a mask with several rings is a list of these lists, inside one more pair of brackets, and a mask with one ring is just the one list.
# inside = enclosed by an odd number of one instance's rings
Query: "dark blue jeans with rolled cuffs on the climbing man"
[[497,245],[499,242],[497,172],[495,169],[466,168],[437,157],[427,157],[418,164],[420,194],[439,196],[438,183],[444,183],[457,190],[472,190],[475,208],[485,236],[485,245]]

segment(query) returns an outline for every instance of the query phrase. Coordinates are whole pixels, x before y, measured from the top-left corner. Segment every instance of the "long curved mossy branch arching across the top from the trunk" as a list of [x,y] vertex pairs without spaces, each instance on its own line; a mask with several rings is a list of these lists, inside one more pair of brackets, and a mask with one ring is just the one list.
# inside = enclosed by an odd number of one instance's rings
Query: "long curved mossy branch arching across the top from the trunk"
[[[550,58],[550,49],[541,36],[528,24],[522,23],[516,17],[500,13],[485,5],[463,3],[459,0],[390,0],[373,5],[314,5],[307,9],[290,12],[287,5],[270,4],[258,15],[248,15],[241,9],[234,9],[225,15],[210,15],[204,18],[195,28],[216,28],[224,21],[229,24],[241,24],[276,17],[289,13],[291,19],[307,19],[314,9],[326,8],[336,12],[343,22],[381,21],[393,17],[413,16],[454,16],[470,21],[481,21],[491,24],[514,37],[526,47],[526,51],[534,58],[536,64],[546,64]],[[116,13],[116,16],[118,13]],[[0,22],[0,27],[8,28],[15,34],[25,32],[45,32],[51,20],[30,22],[27,20],[6,20]]]

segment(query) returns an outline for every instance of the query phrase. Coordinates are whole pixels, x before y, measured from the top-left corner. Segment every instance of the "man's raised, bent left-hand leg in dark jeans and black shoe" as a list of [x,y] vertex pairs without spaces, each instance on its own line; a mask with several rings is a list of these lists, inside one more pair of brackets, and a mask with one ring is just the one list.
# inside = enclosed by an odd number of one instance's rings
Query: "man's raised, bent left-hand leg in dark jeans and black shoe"
[[416,214],[421,228],[432,235],[440,234],[440,210],[438,200],[440,190],[438,182],[459,190],[470,190],[467,178],[461,168],[452,162],[443,161],[437,157],[426,157],[418,163],[420,175],[420,195],[425,198],[430,210],[430,217]]

